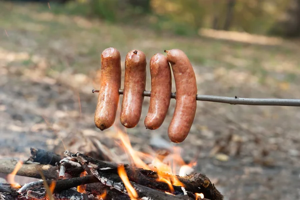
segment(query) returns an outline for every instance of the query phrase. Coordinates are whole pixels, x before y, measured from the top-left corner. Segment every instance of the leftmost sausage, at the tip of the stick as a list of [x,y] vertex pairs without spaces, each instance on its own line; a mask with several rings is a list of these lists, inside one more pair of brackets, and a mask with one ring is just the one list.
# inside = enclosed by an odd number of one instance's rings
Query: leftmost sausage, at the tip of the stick
[[104,130],[115,120],[121,86],[121,57],[114,48],[107,48],[101,54],[101,75],[98,102],[94,115],[97,128]]

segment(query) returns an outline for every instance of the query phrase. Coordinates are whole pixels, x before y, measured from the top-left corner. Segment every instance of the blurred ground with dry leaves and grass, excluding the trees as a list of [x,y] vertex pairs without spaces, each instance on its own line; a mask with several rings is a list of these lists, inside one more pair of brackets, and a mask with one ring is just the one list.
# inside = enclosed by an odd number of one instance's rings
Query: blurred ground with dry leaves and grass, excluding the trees
[[[29,147],[62,153],[96,150],[95,141],[115,145],[115,129],[94,126],[97,95],[91,93],[100,53],[110,46],[120,51],[122,67],[131,49],[143,51],[147,63],[164,49],[183,50],[193,63],[198,94],[300,99],[298,43],[174,37],[53,15],[44,7],[0,2],[0,157],[26,157]],[[184,159],[196,157],[196,171],[225,199],[300,199],[300,108],[197,102],[188,137],[172,144],[167,127],[175,101],[155,131],[143,125],[148,102],[145,97],[139,124],[127,129],[134,148],[181,147]]]

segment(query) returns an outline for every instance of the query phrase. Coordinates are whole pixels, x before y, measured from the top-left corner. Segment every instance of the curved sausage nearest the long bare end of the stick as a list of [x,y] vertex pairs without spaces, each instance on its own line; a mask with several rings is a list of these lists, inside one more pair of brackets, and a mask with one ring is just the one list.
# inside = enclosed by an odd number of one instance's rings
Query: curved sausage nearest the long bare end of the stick
[[195,73],[187,56],[178,49],[165,51],[176,86],[176,105],[171,123],[168,127],[168,136],[172,142],[182,142],[192,125],[196,112],[197,85]]

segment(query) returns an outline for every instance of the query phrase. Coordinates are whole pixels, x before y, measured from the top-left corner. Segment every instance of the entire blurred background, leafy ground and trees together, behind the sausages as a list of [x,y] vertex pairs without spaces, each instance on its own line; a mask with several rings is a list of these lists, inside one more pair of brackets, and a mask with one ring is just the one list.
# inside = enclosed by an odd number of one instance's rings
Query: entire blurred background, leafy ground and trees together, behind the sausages
[[[181,49],[197,94],[300,99],[298,36],[300,0],[0,0],[0,157],[97,152],[99,143],[114,152],[116,130],[93,122],[105,48],[120,52],[122,80],[128,51],[149,63]],[[150,90],[149,67],[146,81]],[[198,101],[188,137],[170,144],[175,100],[155,131],[143,124],[148,104],[126,130],[135,149],[182,148],[225,200],[300,199],[299,107]]]

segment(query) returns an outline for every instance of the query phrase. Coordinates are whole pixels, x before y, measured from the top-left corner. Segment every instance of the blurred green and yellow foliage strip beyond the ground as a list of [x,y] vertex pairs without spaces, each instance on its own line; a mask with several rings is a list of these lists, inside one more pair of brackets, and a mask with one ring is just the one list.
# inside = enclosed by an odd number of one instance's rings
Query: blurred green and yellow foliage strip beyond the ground
[[[37,0],[43,1],[43,0]],[[50,1],[50,2],[55,2]],[[146,25],[156,31],[197,35],[201,28],[251,34],[300,35],[299,0],[57,0],[54,12]]]

